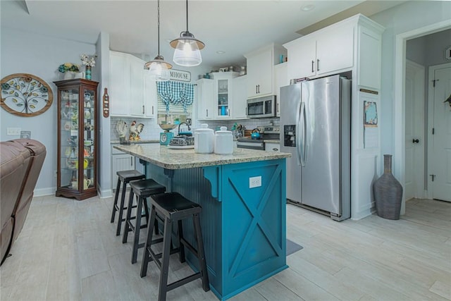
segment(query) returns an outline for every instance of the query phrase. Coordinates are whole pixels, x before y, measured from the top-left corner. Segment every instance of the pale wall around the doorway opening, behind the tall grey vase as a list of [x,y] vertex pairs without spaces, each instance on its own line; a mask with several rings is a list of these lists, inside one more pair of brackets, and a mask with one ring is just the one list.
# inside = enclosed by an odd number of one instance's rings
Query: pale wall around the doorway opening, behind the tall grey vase
[[[394,154],[395,118],[395,39],[396,35],[450,20],[451,1],[407,1],[381,13],[371,16],[372,20],[385,27],[382,44],[382,87],[381,87],[381,154]],[[393,165],[397,158],[393,156]],[[381,160],[383,161],[383,160]],[[383,170],[381,166],[381,170]],[[399,175],[395,174],[395,177]]]

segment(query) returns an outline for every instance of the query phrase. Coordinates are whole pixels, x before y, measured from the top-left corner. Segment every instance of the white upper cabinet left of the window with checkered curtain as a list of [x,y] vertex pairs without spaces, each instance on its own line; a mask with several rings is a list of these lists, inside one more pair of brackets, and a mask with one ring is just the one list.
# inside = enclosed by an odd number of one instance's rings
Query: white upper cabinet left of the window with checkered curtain
[[[111,116],[151,118],[147,113],[144,61],[131,54],[110,51]],[[154,110],[155,111],[155,110]]]

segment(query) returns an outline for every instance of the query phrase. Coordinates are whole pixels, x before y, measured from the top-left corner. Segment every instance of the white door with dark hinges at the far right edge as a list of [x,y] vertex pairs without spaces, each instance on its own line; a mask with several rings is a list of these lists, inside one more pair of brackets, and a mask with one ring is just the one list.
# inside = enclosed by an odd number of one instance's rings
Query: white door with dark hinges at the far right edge
[[433,199],[451,202],[451,64],[432,66],[429,78],[432,111],[431,158],[429,184]]

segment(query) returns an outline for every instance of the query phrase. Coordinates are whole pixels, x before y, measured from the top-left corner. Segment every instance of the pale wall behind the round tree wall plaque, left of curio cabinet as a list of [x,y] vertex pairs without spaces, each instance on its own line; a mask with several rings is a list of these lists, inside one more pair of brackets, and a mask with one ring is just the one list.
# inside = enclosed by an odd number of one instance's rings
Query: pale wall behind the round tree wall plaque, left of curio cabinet
[[[47,148],[41,174],[37,181],[35,195],[53,194],[56,190],[56,143],[57,143],[57,101],[55,80],[61,80],[58,66],[61,63],[81,63],[80,54],[91,56],[96,51],[93,44],[55,39],[46,35],[1,27],[0,77],[13,73],[30,73],[45,80],[54,93],[50,109],[39,116],[20,117],[0,109],[0,140],[11,140],[19,136],[7,136],[7,127],[30,130],[32,139],[39,140]],[[97,79],[94,68],[93,80]]]

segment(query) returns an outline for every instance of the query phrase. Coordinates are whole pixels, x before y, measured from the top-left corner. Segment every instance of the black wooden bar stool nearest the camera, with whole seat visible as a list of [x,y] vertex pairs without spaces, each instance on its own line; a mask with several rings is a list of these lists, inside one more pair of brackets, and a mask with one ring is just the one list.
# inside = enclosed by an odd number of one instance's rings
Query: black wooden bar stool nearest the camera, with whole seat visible
[[[166,300],[166,293],[169,290],[178,288],[181,285],[202,278],[202,288],[204,291],[209,291],[209,276],[206,270],[206,261],[204,253],[204,242],[202,240],[202,231],[200,228],[199,214],[202,212],[202,207],[199,204],[191,202],[178,192],[169,192],[160,195],[153,195],[151,199],[152,209],[150,214],[149,228],[147,230],[147,240],[144,246],[144,254],[142,256],[141,277],[147,274],[147,265],[149,261],[154,261],[156,266],[160,269],[160,283],[158,300]],[[161,215],[164,219],[163,231],[163,250],[159,254],[155,254],[152,250],[152,233],[156,221],[156,214]],[[183,238],[182,220],[192,217],[194,223],[194,236],[197,242],[197,250]],[[178,223],[178,250],[171,248],[172,228],[173,223]],[[168,284],[168,268],[169,256],[173,251],[179,252],[180,262],[185,262],[185,249],[187,247],[192,254],[199,260],[199,272],[187,276],[183,279]],[[161,262],[159,261],[161,258]]]

